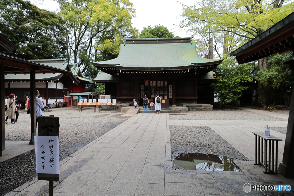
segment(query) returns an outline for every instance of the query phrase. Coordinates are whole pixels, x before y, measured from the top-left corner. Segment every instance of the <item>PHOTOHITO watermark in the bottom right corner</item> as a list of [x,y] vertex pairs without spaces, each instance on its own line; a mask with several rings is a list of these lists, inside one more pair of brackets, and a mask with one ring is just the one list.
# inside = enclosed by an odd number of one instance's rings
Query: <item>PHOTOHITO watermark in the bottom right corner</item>
[[250,185],[249,183],[246,183],[244,185],[244,191],[250,192],[250,191],[290,191],[291,186],[290,185]]

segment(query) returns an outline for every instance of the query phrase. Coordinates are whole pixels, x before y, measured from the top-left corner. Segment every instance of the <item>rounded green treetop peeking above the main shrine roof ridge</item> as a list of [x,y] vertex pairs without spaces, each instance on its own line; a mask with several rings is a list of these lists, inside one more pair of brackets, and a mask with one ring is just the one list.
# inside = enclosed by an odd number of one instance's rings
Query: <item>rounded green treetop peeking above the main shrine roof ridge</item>
[[[175,37],[173,32],[169,32],[165,26],[155,25],[153,28],[151,26],[144,27],[139,34],[140,38],[171,38]],[[179,37],[179,36],[176,36]]]

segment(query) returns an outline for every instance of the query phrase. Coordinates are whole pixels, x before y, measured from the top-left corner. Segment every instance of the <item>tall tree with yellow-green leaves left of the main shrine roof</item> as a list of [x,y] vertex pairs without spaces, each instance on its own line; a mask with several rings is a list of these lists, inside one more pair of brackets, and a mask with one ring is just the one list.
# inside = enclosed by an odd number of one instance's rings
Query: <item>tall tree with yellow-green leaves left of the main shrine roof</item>
[[131,36],[136,32],[131,26],[135,16],[133,4],[128,0],[56,0],[60,16],[66,21],[69,60],[78,63],[82,73],[91,68],[98,57],[98,49],[116,34]]

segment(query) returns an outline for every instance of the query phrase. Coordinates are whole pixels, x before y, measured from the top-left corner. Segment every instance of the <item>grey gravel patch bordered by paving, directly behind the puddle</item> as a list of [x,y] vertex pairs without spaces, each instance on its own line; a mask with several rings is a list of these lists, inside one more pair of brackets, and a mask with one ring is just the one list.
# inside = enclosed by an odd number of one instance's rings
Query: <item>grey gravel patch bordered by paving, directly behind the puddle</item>
[[222,155],[248,160],[208,126],[170,126],[172,159],[181,153]]

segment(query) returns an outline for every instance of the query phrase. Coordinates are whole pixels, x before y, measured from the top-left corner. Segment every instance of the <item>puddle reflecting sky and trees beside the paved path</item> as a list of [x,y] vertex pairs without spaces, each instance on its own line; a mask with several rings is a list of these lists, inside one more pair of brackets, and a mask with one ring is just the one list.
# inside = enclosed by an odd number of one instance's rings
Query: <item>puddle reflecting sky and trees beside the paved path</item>
[[173,169],[203,171],[235,171],[241,170],[233,163],[233,158],[226,156],[188,153],[180,154],[173,160]]

